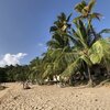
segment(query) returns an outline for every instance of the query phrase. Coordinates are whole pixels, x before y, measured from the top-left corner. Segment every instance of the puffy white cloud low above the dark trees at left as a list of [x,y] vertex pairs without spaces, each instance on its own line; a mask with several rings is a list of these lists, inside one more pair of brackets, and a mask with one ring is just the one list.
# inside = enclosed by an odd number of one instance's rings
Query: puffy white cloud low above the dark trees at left
[[25,53],[18,53],[18,54],[6,54],[0,58],[0,67],[3,67],[6,65],[16,65],[20,64],[20,59],[23,58]]

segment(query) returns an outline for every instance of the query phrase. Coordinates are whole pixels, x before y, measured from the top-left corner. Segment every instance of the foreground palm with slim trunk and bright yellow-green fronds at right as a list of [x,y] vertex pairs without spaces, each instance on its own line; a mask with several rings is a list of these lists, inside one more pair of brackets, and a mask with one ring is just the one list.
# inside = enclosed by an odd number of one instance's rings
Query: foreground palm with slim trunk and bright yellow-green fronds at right
[[[75,50],[76,53],[73,54],[77,55],[77,57],[70,65],[68,65],[63,75],[68,76],[76,73],[82,66],[82,63],[85,63],[89,76],[89,84],[92,84],[90,68],[95,64],[109,62],[110,43],[106,42],[103,38],[94,42],[92,36],[88,31],[88,26],[86,26],[81,20],[77,21],[75,24],[77,30],[73,29],[73,38],[76,43],[75,46],[77,46],[77,51]],[[101,32],[99,33],[100,35]]]

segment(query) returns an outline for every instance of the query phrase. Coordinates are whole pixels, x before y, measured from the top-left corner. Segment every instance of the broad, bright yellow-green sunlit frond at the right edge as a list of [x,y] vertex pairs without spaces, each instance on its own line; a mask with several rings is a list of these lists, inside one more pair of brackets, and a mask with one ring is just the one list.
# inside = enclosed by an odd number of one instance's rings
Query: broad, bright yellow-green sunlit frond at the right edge
[[101,38],[98,40],[94,45],[91,46],[89,53],[90,53],[90,61],[92,64],[99,64],[102,58],[109,58],[110,56],[110,43],[108,43],[106,40]]

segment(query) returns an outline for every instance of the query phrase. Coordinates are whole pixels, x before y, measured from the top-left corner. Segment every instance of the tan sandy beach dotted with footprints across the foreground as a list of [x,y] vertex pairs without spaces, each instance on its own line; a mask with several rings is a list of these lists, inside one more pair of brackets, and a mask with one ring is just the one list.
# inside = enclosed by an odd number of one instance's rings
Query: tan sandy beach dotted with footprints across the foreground
[[0,91],[0,110],[110,110],[110,88],[81,88],[6,84]]

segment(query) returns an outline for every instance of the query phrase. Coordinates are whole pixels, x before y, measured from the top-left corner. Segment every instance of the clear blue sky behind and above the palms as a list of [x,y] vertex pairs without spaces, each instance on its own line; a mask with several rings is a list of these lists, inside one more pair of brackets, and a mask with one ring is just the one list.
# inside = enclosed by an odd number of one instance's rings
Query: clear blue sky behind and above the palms
[[[61,12],[76,16],[74,6],[80,0],[0,0],[0,61],[4,55],[23,53],[22,64],[46,51],[50,26]],[[97,0],[95,11],[103,14],[96,30],[110,28],[110,1]],[[26,55],[28,54],[28,55]],[[21,54],[20,54],[21,55]]]

